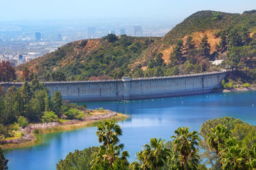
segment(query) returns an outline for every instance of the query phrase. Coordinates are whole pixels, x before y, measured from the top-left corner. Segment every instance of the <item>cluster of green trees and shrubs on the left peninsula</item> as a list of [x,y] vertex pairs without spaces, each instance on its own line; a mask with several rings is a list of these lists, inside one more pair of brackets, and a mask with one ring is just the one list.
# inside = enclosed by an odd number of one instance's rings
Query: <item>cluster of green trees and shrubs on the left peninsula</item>
[[35,74],[34,76],[31,83],[24,81],[19,89],[13,86],[5,95],[0,95],[1,139],[20,138],[20,127],[25,128],[29,123],[62,123],[63,118],[82,120],[85,117],[85,113],[81,111],[86,110],[84,106],[65,103],[59,91],[50,97],[45,85],[38,81]]

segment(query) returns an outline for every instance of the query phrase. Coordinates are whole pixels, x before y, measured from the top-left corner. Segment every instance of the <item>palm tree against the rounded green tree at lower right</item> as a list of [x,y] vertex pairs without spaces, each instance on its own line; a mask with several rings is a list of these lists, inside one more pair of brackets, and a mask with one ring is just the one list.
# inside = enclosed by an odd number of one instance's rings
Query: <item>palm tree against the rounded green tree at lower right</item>
[[214,150],[219,155],[221,148],[225,145],[225,139],[230,138],[230,131],[227,130],[223,125],[217,125],[212,128],[210,133],[207,135],[209,148]]

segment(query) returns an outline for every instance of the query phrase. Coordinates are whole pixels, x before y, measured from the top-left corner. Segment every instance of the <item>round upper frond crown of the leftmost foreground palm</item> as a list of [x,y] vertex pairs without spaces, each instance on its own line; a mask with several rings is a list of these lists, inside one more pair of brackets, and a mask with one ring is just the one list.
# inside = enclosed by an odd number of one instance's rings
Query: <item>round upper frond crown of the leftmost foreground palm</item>
[[112,143],[118,143],[118,136],[122,135],[122,129],[113,121],[106,120],[103,124],[98,125],[96,135],[99,138],[99,143],[103,143],[104,146],[108,147]]

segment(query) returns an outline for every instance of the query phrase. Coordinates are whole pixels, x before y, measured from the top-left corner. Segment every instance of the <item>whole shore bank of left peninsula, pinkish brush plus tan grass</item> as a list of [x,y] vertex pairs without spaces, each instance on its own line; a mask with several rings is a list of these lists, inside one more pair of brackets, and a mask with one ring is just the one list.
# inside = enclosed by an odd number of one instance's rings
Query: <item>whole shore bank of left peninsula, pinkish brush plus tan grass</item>
[[[116,113],[111,111],[111,113],[115,113],[115,115],[108,115],[106,116],[93,118],[90,120],[69,120],[65,122],[66,124],[59,124],[58,122],[51,122],[48,124],[32,124],[29,125],[29,127],[26,127],[25,129],[22,129],[22,132],[26,132],[26,135],[17,138],[17,139],[8,139],[9,142],[17,141],[17,143],[4,143],[3,145],[0,145],[0,147],[3,150],[8,149],[17,149],[17,148],[25,148],[29,146],[38,145],[39,143],[42,143],[42,139],[40,139],[40,136],[38,134],[47,134],[51,132],[63,132],[63,131],[72,131],[75,129],[81,129],[84,127],[94,127],[99,125],[100,123],[106,121],[106,120],[113,120],[114,122],[125,120],[129,117],[129,115],[124,115],[122,113]],[[46,125],[46,126],[45,126]],[[45,128],[46,127],[46,128]]]

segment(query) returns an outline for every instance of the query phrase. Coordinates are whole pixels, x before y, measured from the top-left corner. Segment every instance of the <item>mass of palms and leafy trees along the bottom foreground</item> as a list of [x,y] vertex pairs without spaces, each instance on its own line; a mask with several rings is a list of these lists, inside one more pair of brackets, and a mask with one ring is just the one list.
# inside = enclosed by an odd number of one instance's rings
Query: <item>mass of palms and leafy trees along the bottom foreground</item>
[[[172,141],[152,138],[137,153],[138,161],[127,162],[129,153],[121,153],[122,129],[113,122],[98,125],[101,146],[76,150],[60,160],[57,169],[254,169],[256,128],[239,119],[223,117],[207,120],[200,134],[179,127]],[[202,136],[202,139],[200,136]],[[198,153],[200,147],[204,152]],[[92,160],[88,164],[88,160]]]

